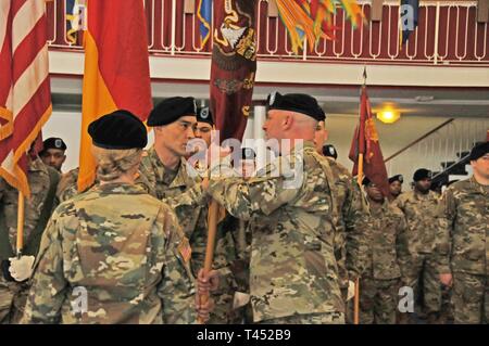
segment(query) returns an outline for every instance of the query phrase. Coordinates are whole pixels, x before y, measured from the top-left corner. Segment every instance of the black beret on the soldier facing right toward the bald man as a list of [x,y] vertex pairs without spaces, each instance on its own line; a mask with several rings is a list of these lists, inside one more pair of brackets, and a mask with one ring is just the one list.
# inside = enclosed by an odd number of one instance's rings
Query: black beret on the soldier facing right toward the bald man
[[196,99],[180,97],[165,99],[151,111],[148,126],[168,125],[186,115],[197,116]]

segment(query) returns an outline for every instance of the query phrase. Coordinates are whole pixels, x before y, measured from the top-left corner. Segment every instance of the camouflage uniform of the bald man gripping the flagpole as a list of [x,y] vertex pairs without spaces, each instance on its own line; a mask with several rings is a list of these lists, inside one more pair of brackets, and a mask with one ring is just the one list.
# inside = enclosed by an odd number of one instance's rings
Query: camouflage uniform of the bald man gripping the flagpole
[[[224,162],[211,174],[230,170]],[[314,144],[304,142],[303,151],[278,157],[249,180],[211,180],[209,193],[231,215],[249,220],[254,322],[344,323],[335,258],[341,196],[331,198],[331,187],[351,179],[330,180],[330,171]],[[343,208],[362,209],[351,205],[354,196],[343,197]]]

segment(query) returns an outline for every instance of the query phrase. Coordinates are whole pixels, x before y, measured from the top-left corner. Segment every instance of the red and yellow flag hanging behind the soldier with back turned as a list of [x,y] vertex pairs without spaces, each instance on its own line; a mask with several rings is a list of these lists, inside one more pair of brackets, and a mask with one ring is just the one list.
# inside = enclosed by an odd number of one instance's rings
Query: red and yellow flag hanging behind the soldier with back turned
[[88,0],[78,190],[95,181],[88,125],[115,110],[146,120],[151,85],[146,17],[140,0]]

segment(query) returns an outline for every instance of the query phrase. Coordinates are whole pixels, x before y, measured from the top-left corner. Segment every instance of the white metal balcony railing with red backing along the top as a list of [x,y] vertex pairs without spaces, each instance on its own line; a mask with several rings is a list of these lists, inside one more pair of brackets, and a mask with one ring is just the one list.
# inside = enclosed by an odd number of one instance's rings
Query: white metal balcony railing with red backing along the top
[[[197,2],[197,1],[196,1]],[[259,0],[258,52],[261,60],[489,66],[488,23],[477,23],[475,1],[424,1],[419,8],[418,26],[408,44],[399,46],[399,2],[386,1],[383,20],[368,22],[353,29],[338,9],[335,25],[341,30],[336,40],[321,40],[311,52],[299,55],[291,51],[284,25],[268,15],[268,1]],[[184,0],[146,0],[149,51],[153,55],[199,56],[211,54],[212,37],[200,47],[199,20],[185,13]],[[369,17],[371,4],[361,4]],[[50,48],[82,50],[66,40],[65,0],[48,3]],[[214,27],[212,27],[212,30]]]

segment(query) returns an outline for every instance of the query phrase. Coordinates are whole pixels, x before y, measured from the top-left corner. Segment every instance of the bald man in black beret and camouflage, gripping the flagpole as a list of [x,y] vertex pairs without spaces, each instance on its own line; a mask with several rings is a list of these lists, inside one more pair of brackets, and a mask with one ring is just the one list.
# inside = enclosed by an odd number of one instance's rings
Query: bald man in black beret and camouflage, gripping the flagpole
[[[365,221],[360,189],[317,153],[314,136],[325,114],[314,98],[277,92],[268,105],[263,130],[280,156],[250,179],[231,177],[227,157],[212,163],[208,193],[248,221],[254,322],[344,323],[336,234]],[[363,254],[366,241],[350,245]],[[351,259],[354,280],[364,258]]]

